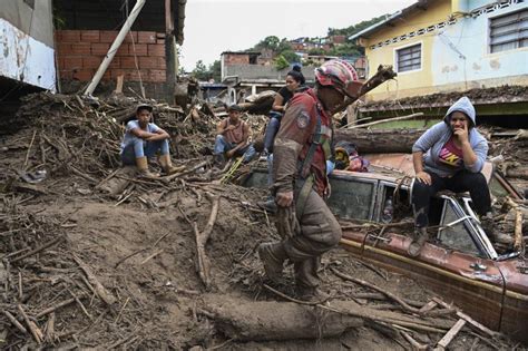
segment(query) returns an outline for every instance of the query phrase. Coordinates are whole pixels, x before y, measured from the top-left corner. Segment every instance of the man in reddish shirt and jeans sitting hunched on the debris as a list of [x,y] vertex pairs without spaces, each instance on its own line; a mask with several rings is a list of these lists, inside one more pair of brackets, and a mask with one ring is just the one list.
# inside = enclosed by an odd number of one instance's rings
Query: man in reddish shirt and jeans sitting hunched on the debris
[[227,113],[229,116],[216,126],[215,163],[223,165],[226,158],[233,156],[242,156],[248,163],[256,154],[250,143],[251,127],[241,119],[242,108],[238,105],[229,106]]

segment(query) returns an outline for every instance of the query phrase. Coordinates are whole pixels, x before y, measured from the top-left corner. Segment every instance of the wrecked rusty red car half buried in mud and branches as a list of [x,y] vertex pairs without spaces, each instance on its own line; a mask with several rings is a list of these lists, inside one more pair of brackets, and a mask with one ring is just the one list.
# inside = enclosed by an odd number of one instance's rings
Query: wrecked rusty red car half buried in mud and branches
[[[342,224],[342,246],[365,262],[424,283],[481,323],[528,343],[528,260],[522,253],[496,250],[471,209],[469,196],[439,194],[430,212],[430,225],[438,227],[436,238],[418,257],[411,257],[407,253],[413,221],[410,156],[369,159],[370,173],[334,170],[330,176],[327,204]],[[265,175],[258,172],[265,173],[255,169],[247,185],[265,184]],[[490,164],[483,173],[496,195],[519,196],[492,174]],[[389,225],[381,234],[358,230],[358,222],[387,221],[383,209],[389,198],[397,203],[392,222],[407,222],[408,226]]]

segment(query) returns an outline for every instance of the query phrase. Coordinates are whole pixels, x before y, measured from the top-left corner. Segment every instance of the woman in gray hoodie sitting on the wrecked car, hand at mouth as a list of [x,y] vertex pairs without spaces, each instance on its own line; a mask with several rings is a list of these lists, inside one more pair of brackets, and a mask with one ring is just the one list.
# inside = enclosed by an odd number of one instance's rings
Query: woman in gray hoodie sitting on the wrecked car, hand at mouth
[[409,246],[412,256],[420,254],[428,238],[429,204],[437,192],[469,192],[481,217],[491,211],[488,183],[480,173],[488,143],[475,126],[475,107],[462,97],[448,109],[443,121],[429,128],[412,147],[415,173],[412,206],[417,225],[417,237]]

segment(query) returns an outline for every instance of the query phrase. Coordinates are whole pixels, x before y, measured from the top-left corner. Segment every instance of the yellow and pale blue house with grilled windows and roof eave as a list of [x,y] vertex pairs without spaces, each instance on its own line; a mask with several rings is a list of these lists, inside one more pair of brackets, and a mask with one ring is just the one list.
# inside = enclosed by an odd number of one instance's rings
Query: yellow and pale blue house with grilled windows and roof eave
[[528,2],[421,0],[352,36],[369,76],[393,65],[397,80],[368,101],[501,85],[528,86]]

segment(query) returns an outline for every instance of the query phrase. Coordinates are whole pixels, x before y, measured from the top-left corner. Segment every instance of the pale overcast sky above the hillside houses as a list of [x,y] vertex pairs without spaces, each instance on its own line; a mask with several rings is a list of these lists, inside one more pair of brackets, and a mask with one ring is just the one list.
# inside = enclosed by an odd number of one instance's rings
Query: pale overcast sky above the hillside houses
[[223,51],[245,50],[267,36],[295,39],[324,37],[329,28],[345,28],[414,0],[187,0],[180,62],[193,70]]

